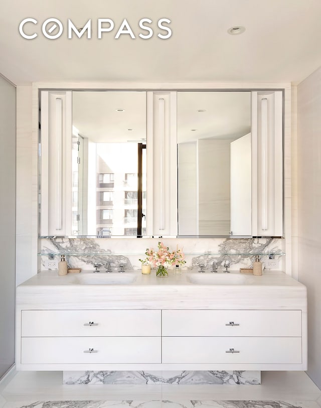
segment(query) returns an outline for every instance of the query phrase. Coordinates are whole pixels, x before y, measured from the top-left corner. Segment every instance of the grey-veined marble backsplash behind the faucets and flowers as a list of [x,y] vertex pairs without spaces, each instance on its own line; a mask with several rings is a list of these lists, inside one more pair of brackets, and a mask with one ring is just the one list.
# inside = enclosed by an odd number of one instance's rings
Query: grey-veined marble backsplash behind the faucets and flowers
[[203,264],[209,269],[215,261],[220,271],[228,260],[230,270],[238,270],[250,267],[256,253],[266,253],[261,256],[262,262],[268,258],[268,253],[275,253],[275,259],[279,260],[278,269],[284,270],[282,238],[43,238],[39,270],[44,269],[44,260],[49,253],[66,253],[69,267],[84,270],[93,269],[94,264],[104,268],[107,262],[114,269],[119,264],[125,269],[140,269],[139,258],[145,257],[146,248],[156,248],[158,241],[164,242],[171,250],[179,247],[184,251],[184,268],[197,268]]

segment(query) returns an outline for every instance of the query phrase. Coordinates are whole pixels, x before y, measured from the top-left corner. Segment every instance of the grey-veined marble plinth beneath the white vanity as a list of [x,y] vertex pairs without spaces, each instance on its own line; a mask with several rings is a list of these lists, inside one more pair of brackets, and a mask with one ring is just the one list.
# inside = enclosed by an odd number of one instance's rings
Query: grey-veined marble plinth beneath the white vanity
[[63,383],[258,385],[261,371],[64,371]]

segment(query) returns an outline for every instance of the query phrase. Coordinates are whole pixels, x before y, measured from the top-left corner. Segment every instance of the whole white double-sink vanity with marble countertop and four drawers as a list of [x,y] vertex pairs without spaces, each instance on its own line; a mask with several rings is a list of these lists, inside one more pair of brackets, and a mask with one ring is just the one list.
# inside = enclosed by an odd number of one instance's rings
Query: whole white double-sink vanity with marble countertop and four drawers
[[262,277],[43,271],[17,288],[18,370],[305,370],[306,288]]

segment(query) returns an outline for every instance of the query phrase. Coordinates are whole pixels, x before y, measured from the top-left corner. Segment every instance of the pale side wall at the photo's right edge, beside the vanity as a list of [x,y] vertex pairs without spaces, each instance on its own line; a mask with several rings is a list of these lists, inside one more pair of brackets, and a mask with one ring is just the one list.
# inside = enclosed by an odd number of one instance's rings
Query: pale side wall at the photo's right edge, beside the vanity
[[298,277],[307,287],[308,375],[321,387],[321,68],[297,87]]

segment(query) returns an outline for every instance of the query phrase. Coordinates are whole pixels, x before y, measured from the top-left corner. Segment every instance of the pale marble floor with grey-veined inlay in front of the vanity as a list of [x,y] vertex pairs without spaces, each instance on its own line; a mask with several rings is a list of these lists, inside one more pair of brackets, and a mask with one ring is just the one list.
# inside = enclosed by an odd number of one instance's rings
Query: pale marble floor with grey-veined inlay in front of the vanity
[[300,371],[262,372],[261,385],[66,385],[62,372],[12,371],[0,408],[320,408],[321,390]]

